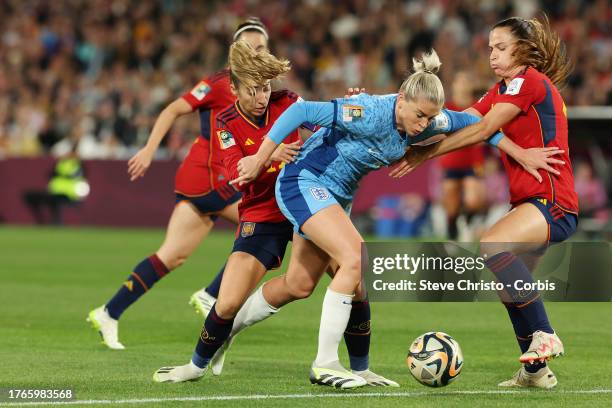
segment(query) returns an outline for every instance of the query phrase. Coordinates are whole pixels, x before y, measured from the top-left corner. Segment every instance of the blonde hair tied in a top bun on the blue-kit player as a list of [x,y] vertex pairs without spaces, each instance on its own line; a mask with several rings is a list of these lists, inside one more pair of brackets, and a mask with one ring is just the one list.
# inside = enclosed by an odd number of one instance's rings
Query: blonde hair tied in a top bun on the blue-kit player
[[444,105],[444,88],[442,81],[436,73],[440,69],[440,58],[434,49],[429,53],[421,55],[420,59],[412,59],[412,73],[402,86],[400,92],[406,100],[425,98],[426,100],[442,107]]

